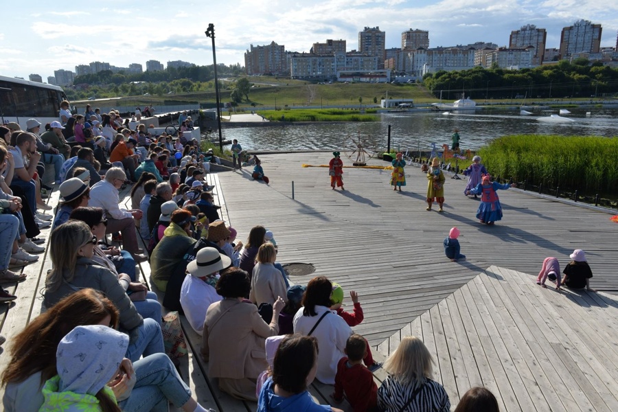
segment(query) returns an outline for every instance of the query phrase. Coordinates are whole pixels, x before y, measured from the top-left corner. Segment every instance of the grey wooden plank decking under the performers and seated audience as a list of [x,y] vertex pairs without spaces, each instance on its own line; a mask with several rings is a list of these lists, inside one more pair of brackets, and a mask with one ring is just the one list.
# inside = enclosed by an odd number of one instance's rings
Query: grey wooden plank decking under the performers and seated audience
[[[354,330],[378,358],[402,336],[421,336],[453,409],[469,387],[485,385],[504,411],[618,411],[615,296],[559,294],[534,284],[544,258],[564,266],[580,248],[594,273],[591,286],[618,290],[618,225],[609,214],[508,190],[499,192],[503,220],[488,227],[474,218],[478,201],[463,196],[465,181],[447,179],[445,213],[438,214],[425,210],[427,183],[418,168],[407,168],[402,194],[388,186],[387,171],[346,168],[341,192],[330,190],[325,168],[301,167],[327,164],[330,153],[260,158],[270,185],[253,181],[249,170],[209,175],[223,217],[243,242],[254,225],[273,231],[279,262],[314,265],[315,273],[293,282],[325,275],[346,295],[356,290],[365,321]],[[54,192],[49,203],[56,201]],[[455,225],[466,262],[444,257],[442,240]],[[25,268],[27,281],[8,288],[19,299],[0,306],[5,346],[40,313],[38,290],[49,266],[41,255]],[[148,282],[148,265],[140,267]],[[351,309],[349,299],[344,303]],[[564,321],[565,313],[575,321]],[[198,400],[218,410],[254,409],[218,392],[194,356],[198,339],[186,332],[192,353],[183,377]],[[0,370],[7,361],[0,352]],[[376,373],[376,380],[383,377]],[[312,393],[325,403],[330,387],[313,385]]]

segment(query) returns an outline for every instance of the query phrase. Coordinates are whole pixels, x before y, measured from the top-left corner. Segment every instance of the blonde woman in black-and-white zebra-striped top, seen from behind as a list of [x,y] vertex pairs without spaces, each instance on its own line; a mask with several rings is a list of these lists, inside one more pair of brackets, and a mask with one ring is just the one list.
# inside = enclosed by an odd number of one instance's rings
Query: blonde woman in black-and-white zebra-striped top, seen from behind
[[378,409],[386,412],[448,412],[444,387],[431,380],[433,358],[416,336],[406,336],[382,366],[389,376],[378,388]]

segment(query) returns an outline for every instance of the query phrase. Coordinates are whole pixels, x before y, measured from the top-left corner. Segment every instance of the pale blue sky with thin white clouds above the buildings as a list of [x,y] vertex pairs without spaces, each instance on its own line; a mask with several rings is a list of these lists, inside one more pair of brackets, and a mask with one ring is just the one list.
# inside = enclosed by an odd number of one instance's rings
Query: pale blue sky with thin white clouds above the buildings
[[560,47],[562,27],[580,19],[602,25],[602,46],[615,47],[618,32],[616,0],[6,0],[0,10],[0,75],[37,73],[43,81],[56,69],[93,61],[144,69],[151,59],[211,65],[208,23],[217,62],[242,66],[251,45],[273,41],[293,52],[329,38],[358,49],[364,27],[386,32],[387,48],[401,47],[401,32],[409,29],[428,30],[430,47],[507,46],[510,32],[526,24],[547,30],[546,47]]

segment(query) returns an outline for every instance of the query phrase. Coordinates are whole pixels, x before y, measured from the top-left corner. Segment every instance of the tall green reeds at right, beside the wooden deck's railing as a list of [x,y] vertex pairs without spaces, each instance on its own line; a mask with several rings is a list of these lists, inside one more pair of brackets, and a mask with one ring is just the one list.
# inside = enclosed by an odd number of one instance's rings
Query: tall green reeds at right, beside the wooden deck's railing
[[618,137],[512,135],[491,141],[478,154],[503,179],[617,197]]

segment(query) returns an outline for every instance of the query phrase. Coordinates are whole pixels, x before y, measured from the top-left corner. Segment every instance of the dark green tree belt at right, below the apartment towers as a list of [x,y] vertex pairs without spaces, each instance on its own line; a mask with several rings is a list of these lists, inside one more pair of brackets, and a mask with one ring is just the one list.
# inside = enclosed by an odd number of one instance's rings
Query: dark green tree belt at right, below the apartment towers
[[464,71],[437,71],[423,76],[423,83],[439,98],[474,100],[535,98],[593,98],[618,93],[618,69],[592,64],[585,58],[534,69],[505,70],[474,67]]

